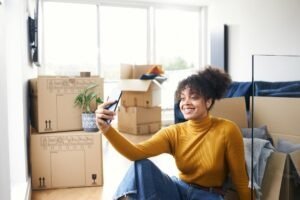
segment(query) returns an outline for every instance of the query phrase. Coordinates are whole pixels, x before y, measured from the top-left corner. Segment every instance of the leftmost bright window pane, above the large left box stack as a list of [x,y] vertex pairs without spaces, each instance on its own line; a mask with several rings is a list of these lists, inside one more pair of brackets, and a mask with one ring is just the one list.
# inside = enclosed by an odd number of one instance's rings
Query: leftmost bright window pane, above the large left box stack
[[47,74],[98,73],[97,6],[45,2],[43,26]]

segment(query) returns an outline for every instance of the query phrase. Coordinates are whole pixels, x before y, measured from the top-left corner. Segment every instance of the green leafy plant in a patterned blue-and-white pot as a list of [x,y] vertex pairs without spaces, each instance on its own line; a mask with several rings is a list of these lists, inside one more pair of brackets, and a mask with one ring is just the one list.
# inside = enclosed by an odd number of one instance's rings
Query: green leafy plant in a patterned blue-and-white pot
[[82,128],[86,132],[98,131],[95,121],[95,110],[97,105],[102,103],[102,99],[97,95],[93,89],[97,84],[90,84],[83,88],[80,93],[75,97],[74,104],[82,110]]

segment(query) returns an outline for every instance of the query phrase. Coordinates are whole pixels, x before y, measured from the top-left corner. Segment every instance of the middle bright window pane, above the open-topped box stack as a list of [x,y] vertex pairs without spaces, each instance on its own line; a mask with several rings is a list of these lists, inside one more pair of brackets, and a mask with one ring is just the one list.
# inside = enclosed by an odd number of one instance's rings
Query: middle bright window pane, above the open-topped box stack
[[121,63],[147,62],[147,9],[102,6],[101,70],[106,80],[119,79]]

